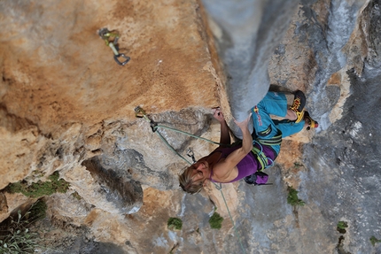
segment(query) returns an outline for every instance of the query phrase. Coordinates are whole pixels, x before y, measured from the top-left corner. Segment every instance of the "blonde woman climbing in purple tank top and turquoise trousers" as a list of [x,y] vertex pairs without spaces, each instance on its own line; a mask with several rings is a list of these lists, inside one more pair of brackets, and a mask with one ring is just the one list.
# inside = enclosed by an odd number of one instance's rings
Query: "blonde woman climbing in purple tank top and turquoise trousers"
[[[259,104],[253,106],[247,119],[242,122],[234,120],[243,135],[242,142],[236,146],[230,146],[229,127],[222,112],[214,109],[214,119],[221,124],[221,145],[179,175],[180,187],[195,194],[208,181],[229,183],[245,179],[251,184],[266,183],[267,178],[261,177],[259,173],[273,165],[279,154],[282,138],[298,133],[303,127],[318,127],[318,123],[304,112],[305,104],[306,97],[299,90],[294,93],[290,107],[284,93],[268,92]],[[271,119],[270,114],[284,119]],[[256,136],[254,140],[248,128],[252,115]],[[251,182],[253,177],[255,182]]]

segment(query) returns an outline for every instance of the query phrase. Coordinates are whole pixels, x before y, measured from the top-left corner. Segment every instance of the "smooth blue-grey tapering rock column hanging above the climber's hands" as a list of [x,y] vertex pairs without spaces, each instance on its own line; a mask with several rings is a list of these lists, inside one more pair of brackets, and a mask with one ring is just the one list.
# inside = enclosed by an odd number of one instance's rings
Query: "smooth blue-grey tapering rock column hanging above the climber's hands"
[[204,0],[203,3],[212,18],[219,55],[228,76],[231,112],[242,121],[268,91],[268,61],[289,27],[298,1]]

